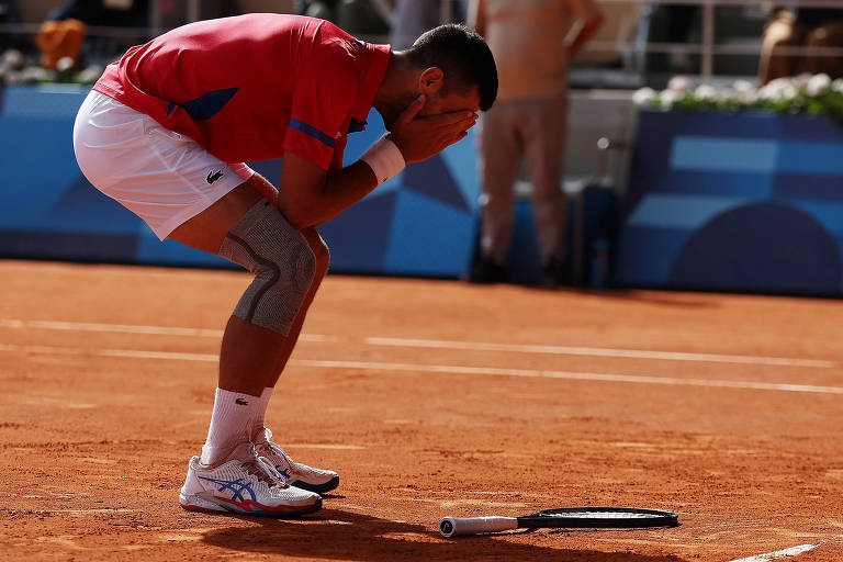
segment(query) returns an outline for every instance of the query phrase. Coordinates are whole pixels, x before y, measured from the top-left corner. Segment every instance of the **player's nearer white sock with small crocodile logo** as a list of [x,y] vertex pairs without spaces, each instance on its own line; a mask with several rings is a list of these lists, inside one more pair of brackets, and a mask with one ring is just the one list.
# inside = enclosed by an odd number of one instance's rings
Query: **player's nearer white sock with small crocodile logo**
[[235,445],[250,440],[252,419],[258,409],[259,396],[216,389],[211,426],[202,446],[202,464],[218,464]]

